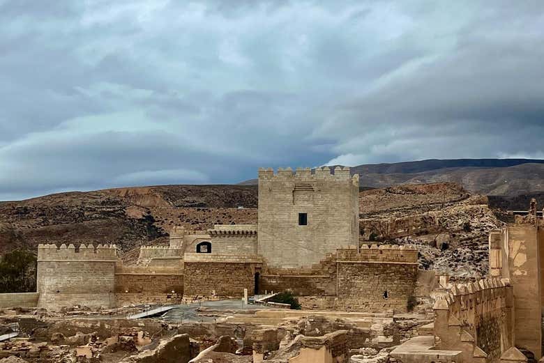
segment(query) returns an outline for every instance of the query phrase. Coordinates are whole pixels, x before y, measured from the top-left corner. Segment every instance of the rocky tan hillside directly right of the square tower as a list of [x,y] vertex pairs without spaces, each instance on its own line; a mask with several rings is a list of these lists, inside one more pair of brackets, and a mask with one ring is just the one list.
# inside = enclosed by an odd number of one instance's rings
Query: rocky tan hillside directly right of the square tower
[[368,190],[359,200],[363,239],[417,245],[422,268],[452,276],[488,271],[488,235],[501,222],[487,197],[437,183]]

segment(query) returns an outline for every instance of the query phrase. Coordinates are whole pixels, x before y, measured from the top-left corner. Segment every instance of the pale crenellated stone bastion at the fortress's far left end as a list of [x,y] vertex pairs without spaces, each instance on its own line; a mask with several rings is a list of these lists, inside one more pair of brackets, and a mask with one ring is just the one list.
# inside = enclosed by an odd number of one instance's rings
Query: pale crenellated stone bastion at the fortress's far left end
[[115,245],[38,245],[38,307],[114,307]]

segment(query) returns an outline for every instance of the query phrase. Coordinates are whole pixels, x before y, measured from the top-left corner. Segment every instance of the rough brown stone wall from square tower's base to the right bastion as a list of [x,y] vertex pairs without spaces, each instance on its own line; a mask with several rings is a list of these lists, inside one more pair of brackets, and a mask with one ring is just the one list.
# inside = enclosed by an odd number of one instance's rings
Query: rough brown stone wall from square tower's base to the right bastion
[[404,312],[409,298],[415,297],[417,250],[409,246],[363,245],[360,251],[338,249],[312,268],[266,266],[263,270],[260,293],[291,290],[298,296],[313,296],[308,300],[310,307],[318,302],[316,296],[322,296],[334,299],[319,305],[335,309]]

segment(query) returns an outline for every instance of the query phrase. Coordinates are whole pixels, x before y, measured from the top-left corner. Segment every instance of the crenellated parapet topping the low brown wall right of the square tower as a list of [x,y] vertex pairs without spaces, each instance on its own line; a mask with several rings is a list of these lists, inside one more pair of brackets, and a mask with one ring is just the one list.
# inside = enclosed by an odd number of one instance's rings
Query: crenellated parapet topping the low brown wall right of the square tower
[[338,249],[338,261],[417,263],[418,250],[411,245],[361,245],[357,249]]

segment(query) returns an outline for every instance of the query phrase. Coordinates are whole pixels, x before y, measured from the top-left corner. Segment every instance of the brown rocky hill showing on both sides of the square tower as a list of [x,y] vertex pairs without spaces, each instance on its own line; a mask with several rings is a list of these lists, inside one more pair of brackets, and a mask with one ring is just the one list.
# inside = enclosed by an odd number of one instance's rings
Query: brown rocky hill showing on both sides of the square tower
[[[487,238],[500,222],[485,196],[455,183],[361,190],[361,240],[415,243],[423,268],[472,276],[487,270]],[[134,258],[167,243],[172,226],[256,223],[257,187],[165,185],[52,194],[0,203],[0,254],[38,243],[115,243]]]

